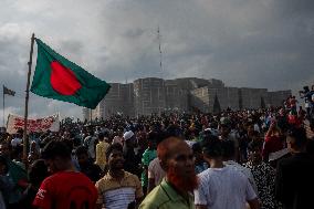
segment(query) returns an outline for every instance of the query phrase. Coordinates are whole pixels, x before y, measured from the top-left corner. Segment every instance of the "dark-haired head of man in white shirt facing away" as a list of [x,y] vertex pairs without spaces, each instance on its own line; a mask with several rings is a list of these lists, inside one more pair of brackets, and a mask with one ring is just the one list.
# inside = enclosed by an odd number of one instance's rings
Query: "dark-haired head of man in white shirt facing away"
[[217,136],[208,136],[202,142],[202,154],[205,159],[212,165],[211,161],[222,161],[222,142]]

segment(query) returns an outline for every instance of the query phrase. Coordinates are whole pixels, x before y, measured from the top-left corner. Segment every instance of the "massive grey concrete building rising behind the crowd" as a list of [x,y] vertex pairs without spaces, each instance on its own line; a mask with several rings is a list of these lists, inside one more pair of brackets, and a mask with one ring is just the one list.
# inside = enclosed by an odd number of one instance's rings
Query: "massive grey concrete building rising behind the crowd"
[[138,79],[133,83],[111,83],[112,88],[98,106],[83,109],[86,119],[106,118],[114,114],[128,116],[160,114],[165,111],[213,112],[214,98],[220,109],[280,106],[291,91],[268,92],[266,88],[229,87],[220,80],[182,77]]

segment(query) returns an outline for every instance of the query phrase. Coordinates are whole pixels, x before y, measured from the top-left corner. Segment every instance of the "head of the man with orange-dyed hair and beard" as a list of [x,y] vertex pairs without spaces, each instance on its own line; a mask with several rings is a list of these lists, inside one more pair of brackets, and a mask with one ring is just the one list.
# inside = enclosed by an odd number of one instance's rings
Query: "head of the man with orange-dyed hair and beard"
[[197,188],[193,153],[186,142],[177,137],[166,138],[158,145],[157,154],[167,180],[176,189],[187,192]]

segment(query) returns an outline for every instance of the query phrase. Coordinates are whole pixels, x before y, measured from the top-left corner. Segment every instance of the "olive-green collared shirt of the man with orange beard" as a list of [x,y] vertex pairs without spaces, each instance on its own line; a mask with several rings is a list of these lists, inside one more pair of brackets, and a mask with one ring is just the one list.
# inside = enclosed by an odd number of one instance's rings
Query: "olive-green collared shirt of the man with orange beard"
[[193,209],[192,195],[188,199],[180,196],[165,179],[143,200],[140,209]]

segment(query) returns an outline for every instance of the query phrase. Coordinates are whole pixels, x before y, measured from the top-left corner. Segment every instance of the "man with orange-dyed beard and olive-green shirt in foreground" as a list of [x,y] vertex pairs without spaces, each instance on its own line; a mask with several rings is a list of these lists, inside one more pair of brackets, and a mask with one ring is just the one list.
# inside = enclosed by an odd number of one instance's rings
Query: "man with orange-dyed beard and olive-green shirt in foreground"
[[166,177],[142,202],[142,209],[195,208],[191,192],[198,181],[192,149],[180,138],[169,137],[157,147]]

